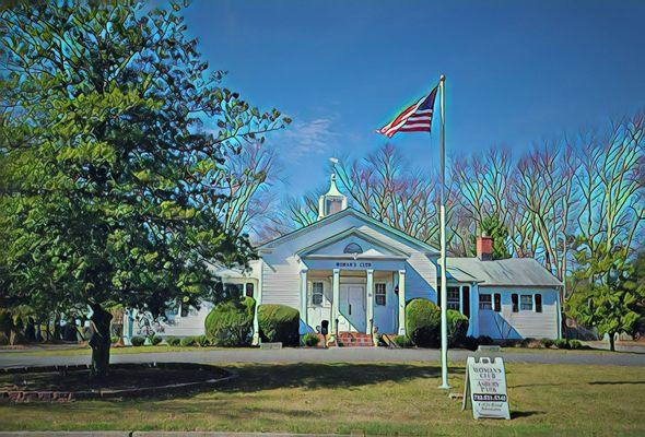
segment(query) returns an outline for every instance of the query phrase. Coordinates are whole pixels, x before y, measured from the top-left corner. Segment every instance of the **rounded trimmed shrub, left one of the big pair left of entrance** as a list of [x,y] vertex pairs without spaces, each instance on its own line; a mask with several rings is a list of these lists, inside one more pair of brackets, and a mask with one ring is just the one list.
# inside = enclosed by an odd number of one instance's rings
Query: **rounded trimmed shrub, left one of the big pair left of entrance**
[[204,322],[206,335],[210,343],[215,346],[250,345],[255,306],[253,297],[218,304]]

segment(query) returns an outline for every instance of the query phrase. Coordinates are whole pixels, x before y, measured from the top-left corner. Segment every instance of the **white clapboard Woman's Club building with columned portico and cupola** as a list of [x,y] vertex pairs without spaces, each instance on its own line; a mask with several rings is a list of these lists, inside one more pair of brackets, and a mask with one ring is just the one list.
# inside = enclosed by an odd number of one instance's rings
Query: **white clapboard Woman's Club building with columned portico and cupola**
[[[258,304],[296,308],[301,333],[404,334],[407,302],[437,303],[438,249],[348,208],[333,175],[317,222],[257,249],[249,271],[219,274]],[[561,282],[535,259],[492,260],[491,251],[491,238],[478,237],[477,257],[447,260],[447,305],[469,318],[469,335],[559,338]],[[201,334],[211,308],[178,308],[155,330]],[[141,329],[129,324],[128,333]]]

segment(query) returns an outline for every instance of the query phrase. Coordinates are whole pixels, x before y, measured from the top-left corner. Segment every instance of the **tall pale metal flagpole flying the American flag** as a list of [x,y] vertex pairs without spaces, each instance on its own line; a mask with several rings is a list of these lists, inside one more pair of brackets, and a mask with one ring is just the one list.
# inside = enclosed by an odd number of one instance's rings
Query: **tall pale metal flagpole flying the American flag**
[[439,244],[441,258],[441,310],[442,310],[442,385],[439,389],[449,389],[448,386],[448,291],[446,287],[446,76],[439,79],[439,110],[441,110],[441,193],[439,193]]

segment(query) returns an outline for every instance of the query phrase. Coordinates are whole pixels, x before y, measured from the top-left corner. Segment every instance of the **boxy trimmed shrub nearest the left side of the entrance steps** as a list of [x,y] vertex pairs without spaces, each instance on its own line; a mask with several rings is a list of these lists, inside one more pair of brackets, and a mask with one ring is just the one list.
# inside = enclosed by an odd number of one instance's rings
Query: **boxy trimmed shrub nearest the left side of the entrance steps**
[[300,343],[300,312],[284,305],[266,304],[258,307],[260,339],[263,342],[282,342],[284,346]]

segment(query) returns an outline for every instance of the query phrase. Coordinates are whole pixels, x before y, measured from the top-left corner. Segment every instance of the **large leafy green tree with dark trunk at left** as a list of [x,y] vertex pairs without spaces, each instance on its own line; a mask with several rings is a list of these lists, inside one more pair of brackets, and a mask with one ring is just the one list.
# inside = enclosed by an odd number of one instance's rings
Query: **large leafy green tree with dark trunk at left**
[[220,221],[235,194],[219,181],[247,141],[289,122],[208,73],[181,8],[61,0],[0,12],[3,305],[91,307],[97,376],[106,308],[199,305],[215,281],[207,261],[253,257]]

